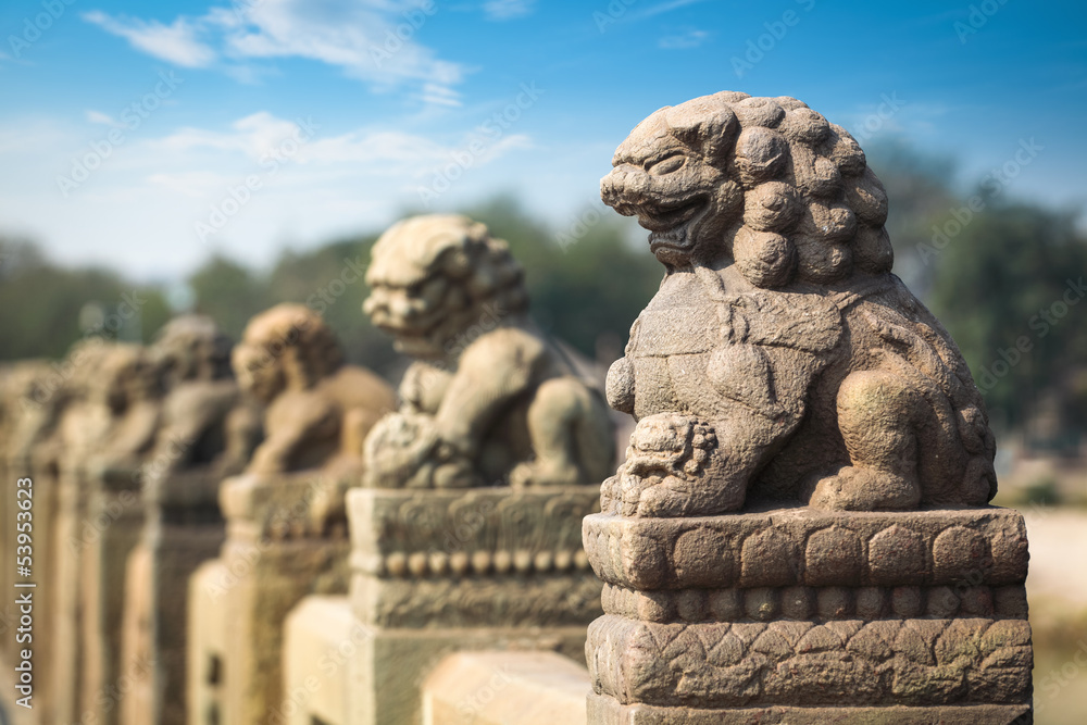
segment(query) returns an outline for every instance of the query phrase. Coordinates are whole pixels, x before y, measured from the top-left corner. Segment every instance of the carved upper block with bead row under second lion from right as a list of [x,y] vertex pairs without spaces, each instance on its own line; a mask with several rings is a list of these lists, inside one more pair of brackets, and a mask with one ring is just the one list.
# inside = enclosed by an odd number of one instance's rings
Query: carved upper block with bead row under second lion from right
[[591,486],[348,493],[352,603],[380,627],[573,626],[600,613]]

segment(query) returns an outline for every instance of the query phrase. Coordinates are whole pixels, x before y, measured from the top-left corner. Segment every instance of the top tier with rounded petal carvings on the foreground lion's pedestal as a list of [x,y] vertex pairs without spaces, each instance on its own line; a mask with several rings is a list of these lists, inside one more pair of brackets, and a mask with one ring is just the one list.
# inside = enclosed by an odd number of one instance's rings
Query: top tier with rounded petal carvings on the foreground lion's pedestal
[[[584,538],[589,562],[604,582],[636,589],[1022,585],[1027,565],[1023,517],[999,508],[835,512],[797,507],[662,520],[600,513],[585,520]],[[970,547],[949,546],[964,538]],[[994,567],[988,552],[998,542],[1005,558]],[[895,546],[888,550],[888,543]],[[888,570],[887,557],[902,568]]]

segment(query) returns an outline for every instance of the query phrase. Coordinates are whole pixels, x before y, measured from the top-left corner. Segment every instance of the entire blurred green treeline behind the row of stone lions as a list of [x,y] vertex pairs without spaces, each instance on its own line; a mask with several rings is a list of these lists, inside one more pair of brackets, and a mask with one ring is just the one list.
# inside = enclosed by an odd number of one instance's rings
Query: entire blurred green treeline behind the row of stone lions
[[[1087,303],[1079,304],[1077,284],[1087,276],[1087,235],[1078,210],[1016,201],[991,179],[960,188],[950,160],[901,143],[875,146],[869,160],[890,197],[896,273],[959,342],[994,423],[1033,430],[1045,439],[1039,445],[1074,446],[1087,427]],[[629,220],[595,208],[579,222],[549,224],[510,198],[462,211],[510,242],[545,329],[603,363],[621,354],[662,276]],[[307,303],[353,362],[395,376],[400,362],[389,340],[360,309],[365,283],[342,284],[368,261],[379,232],[285,251],[271,271],[210,259],[186,280],[182,307],[211,315],[237,338],[257,312]],[[352,274],[341,277],[348,266]],[[63,267],[33,243],[0,240],[0,360],[62,357],[132,290],[109,270]],[[150,341],[173,312],[167,298],[177,296],[157,286],[138,293],[138,318],[115,336]]]

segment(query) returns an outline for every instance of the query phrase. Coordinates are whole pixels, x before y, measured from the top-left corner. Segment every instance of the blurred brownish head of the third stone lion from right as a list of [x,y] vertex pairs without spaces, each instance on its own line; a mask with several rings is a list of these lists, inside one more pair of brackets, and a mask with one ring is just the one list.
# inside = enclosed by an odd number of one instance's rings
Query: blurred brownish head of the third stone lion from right
[[313,310],[277,304],[249,321],[232,363],[241,389],[267,403],[332,375],[343,364],[343,350]]

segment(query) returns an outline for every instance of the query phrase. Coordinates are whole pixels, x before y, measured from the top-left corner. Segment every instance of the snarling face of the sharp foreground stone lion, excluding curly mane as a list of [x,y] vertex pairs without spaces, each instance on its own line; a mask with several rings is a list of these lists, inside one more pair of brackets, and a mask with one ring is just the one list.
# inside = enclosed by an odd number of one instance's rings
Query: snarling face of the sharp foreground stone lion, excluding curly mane
[[619,213],[638,217],[661,262],[686,265],[719,243],[742,211],[742,191],[716,162],[675,138],[658,111],[616,150],[614,168],[600,182],[601,197]]

